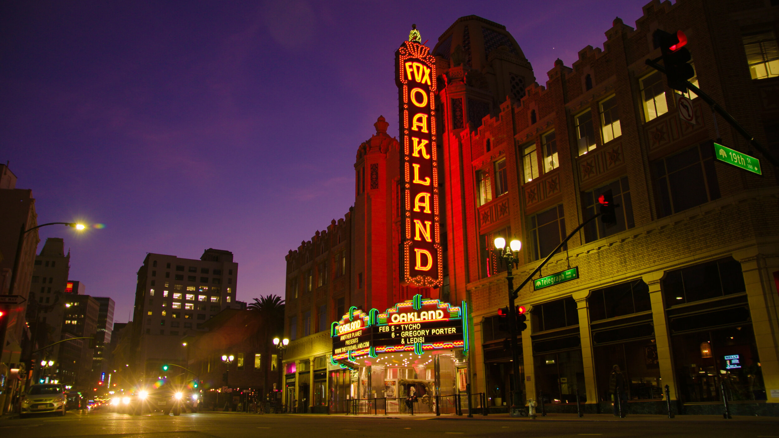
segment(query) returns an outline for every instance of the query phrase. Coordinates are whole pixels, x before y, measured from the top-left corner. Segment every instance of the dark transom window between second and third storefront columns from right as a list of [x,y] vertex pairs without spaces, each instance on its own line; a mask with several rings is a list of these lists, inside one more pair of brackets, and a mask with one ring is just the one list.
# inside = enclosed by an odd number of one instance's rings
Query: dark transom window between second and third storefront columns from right
[[640,313],[652,309],[649,301],[649,286],[643,280],[615,284],[596,289],[587,298],[590,320],[599,321],[615,316]]

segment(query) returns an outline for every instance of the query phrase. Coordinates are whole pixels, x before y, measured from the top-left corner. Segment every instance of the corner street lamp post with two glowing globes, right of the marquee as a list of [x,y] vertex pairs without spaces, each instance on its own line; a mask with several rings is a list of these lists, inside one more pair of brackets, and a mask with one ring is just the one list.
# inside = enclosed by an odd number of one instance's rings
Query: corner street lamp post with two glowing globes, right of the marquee
[[509,246],[506,246],[506,239],[499,237],[495,238],[495,249],[497,249],[498,257],[501,263],[506,267],[506,281],[509,283],[509,336],[511,337],[511,363],[513,370],[513,383],[514,390],[511,397],[511,416],[518,416],[520,409],[524,406],[521,399],[520,385],[520,348],[516,340],[516,306],[514,305],[514,298],[516,298],[516,292],[514,291],[514,276],[511,270],[517,267],[520,263],[520,249],[522,248],[522,242],[513,239]]

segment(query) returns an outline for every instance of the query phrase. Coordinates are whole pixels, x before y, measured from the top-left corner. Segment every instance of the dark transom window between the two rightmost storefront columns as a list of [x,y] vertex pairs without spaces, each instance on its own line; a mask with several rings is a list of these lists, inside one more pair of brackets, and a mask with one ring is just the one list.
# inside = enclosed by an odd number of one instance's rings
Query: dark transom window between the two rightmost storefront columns
[[731,257],[671,270],[663,279],[666,307],[743,291],[741,263]]

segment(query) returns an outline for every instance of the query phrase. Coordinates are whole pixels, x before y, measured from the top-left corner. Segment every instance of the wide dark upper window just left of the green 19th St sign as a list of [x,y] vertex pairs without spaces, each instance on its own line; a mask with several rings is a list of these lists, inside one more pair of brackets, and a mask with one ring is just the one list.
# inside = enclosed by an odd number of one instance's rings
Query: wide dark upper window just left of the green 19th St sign
[[707,144],[654,161],[652,170],[658,217],[720,197],[711,148]]

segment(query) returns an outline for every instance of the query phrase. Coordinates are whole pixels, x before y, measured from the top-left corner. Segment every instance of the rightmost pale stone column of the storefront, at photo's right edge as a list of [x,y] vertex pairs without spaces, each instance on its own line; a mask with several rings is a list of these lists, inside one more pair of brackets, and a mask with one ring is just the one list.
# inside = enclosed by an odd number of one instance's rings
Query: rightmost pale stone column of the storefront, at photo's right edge
[[[779,297],[775,290],[773,271],[767,260],[750,249],[749,252],[733,253],[735,260],[741,263],[746,286],[746,298],[749,301],[749,313],[752,315],[752,328],[755,332],[757,354],[760,355],[760,369],[766,385],[768,403],[779,403],[779,340],[777,340],[777,306]],[[771,397],[774,390],[775,397]]]

